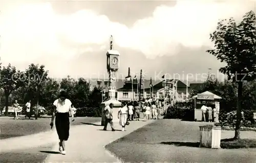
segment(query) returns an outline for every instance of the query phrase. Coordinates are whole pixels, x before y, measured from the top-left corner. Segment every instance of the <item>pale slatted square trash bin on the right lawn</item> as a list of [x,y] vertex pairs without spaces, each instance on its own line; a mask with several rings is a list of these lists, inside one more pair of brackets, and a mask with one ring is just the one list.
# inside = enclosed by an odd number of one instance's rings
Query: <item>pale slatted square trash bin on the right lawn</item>
[[221,127],[217,126],[199,126],[200,147],[221,148]]

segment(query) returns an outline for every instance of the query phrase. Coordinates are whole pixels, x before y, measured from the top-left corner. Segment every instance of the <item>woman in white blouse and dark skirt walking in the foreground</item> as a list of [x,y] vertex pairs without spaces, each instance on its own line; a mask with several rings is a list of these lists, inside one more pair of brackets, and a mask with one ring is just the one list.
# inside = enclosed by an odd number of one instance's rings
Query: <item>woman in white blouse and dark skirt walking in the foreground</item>
[[[59,98],[56,99],[53,102],[53,105],[55,106],[53,114],[52,114],[52,120],[50,125],[53,126],[53,121],[55,118],[55,126],[59,137],[59,151],[61,154],[66,154],[66,146],[65,141],[68,141],[69,139],[69,128],[70,128],[70,122],[69,122],[69,112],[72,114],[72,118],[74,118],[72,107],[71,107],[71,101],[67,98],[67,92],[66,91],[60,91]],[[72,122],[74,119],[72,120]]]

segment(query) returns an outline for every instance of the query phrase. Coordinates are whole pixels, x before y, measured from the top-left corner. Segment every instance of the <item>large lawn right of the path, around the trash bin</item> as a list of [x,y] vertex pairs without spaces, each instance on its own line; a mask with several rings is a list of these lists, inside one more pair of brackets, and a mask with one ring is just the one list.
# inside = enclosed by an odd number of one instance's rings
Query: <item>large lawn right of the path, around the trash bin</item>
[[[124,162],[254,162],[256,149],[198,148],[199,126],[205,122],[157,120],[106,146]],[[255,139],[255,131],[241,138]],[[234,131],[222,131],[222,139]]]

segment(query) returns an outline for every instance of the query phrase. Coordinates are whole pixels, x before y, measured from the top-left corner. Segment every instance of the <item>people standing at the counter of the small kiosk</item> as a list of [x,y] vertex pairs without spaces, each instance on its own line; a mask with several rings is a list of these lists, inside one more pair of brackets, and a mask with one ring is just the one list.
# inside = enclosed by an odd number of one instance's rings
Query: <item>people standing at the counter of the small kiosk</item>
[[212,107],[207,106],[207,104],[202,105],[201,107],[202,110],[202,121],[206,122],[208,120],[209,122],[217,122],[218,121],[218,115],[219,111],[217,108],[214,108],[212,110]]

